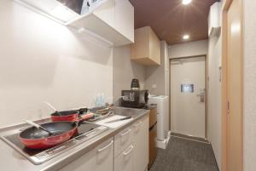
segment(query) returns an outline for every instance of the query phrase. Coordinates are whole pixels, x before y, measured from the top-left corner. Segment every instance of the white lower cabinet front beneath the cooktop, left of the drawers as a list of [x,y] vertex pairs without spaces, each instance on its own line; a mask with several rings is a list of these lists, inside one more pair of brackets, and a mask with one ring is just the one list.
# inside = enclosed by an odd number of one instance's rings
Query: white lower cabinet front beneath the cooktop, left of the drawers
[[59,171],[113,171],[113,138],[104,141],[84,156]]

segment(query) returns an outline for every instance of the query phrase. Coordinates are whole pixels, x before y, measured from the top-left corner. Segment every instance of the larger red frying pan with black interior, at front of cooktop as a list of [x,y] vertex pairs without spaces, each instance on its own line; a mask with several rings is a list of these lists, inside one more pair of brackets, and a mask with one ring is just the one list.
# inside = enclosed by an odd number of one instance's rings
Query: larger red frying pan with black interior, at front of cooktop
[[78,123],[73,122],[44,123],[40,126],[42,128],[31,127],[22,131],[19,136],[21,143],[32,149],[46,149],[69,140],[78,132]]

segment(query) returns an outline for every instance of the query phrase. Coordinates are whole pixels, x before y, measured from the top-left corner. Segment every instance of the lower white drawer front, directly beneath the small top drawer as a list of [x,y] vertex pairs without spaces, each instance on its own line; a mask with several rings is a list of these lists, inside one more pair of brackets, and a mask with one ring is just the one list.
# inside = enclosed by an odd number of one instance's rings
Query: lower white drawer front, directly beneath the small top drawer
[[125,151],[114,160],[114,171],[133,171],[134,145],[129,145]]

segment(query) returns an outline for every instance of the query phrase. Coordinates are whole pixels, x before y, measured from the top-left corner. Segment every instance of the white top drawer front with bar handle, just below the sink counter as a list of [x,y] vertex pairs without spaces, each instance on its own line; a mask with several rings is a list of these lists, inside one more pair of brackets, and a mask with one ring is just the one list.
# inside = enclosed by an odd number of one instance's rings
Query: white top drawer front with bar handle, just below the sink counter
[[119,153],[124,151],[128,145],[132,142],[132,130],[131,127],[125,128],[119,134],[114,136],[114,157],[117,157]]

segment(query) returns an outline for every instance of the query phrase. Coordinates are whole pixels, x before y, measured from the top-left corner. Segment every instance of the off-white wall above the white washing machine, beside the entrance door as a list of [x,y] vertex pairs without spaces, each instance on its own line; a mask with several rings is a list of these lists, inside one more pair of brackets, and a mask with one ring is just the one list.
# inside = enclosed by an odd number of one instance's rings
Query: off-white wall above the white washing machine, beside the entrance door
[[[168,45],[161,41],[161,64],[160,66],[146,67],[146,88],[150,94],[169,95],[169,58]],[[156,88],[152,88],[155,85]]]

